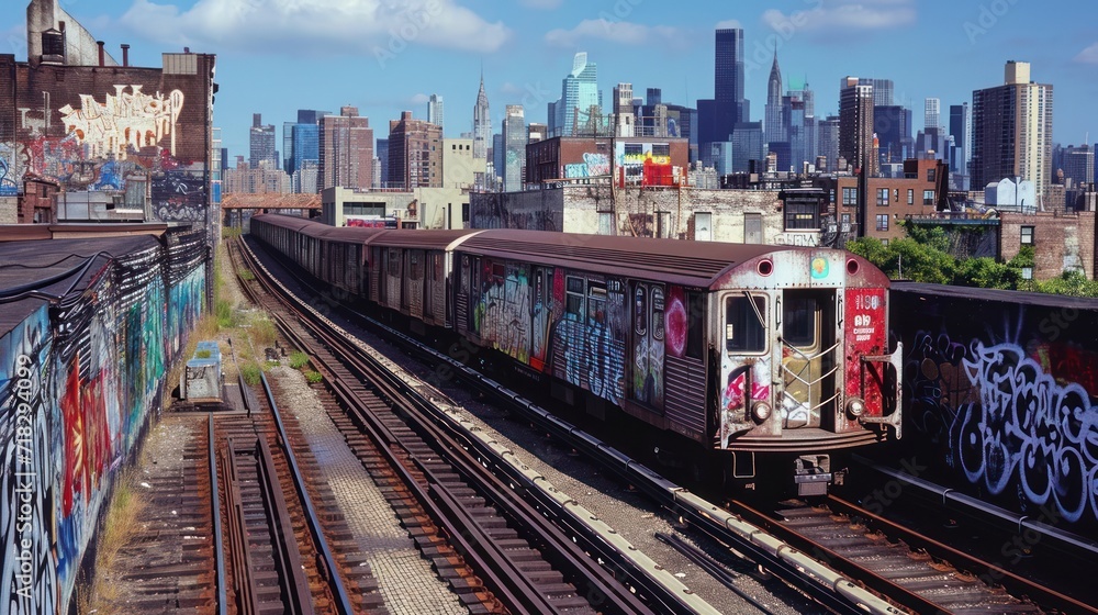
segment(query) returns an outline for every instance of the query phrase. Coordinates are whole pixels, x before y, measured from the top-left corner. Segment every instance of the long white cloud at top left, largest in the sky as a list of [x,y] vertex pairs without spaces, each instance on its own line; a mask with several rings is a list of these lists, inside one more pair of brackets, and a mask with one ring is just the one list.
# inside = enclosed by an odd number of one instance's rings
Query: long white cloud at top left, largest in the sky
[[187,10],[135,0],[122,23],[194,51],[400,54],[408,46],[491,53],[511,36],[458,0],[198,0]]

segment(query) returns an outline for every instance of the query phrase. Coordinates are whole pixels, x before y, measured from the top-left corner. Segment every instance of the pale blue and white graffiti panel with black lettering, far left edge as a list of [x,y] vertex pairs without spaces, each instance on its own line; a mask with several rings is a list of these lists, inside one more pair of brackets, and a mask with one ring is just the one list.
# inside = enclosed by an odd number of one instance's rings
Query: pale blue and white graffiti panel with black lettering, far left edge
[[57,611],[49,502],[48,310],[0,338],[0,612]]

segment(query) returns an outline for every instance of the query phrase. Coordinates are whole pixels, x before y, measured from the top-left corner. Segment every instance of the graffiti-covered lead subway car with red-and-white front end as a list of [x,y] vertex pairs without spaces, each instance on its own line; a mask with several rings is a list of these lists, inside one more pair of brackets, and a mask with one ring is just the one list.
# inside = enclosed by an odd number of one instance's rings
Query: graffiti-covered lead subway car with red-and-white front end
[[842,250],[483,231],[455,248],[455,328],[595,415],[615,406],[727,454],[785,457],[802,494],[828,451],[900,435],[887,278]]

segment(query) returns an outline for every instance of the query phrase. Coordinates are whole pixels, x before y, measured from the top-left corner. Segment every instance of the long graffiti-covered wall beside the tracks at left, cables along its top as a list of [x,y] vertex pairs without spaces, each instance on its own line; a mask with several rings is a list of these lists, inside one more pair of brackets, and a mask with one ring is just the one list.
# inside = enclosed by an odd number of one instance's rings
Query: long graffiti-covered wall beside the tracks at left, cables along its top
[[201,313],[205,266],[183,264],[173,280],[166,255],[148,238],[97,262],[85,290],[0,338],[0,612],[72,601],[114,478]]

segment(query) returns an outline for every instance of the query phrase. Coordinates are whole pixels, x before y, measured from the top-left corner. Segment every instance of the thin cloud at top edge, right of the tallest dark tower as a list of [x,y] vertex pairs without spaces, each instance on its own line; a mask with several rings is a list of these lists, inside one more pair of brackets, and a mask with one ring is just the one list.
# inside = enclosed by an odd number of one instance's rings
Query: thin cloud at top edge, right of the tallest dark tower
[[797,30],[884,30],[916,22],[912,0],[837,0],[788,14],[770,9],[762,21],[777,32]]

